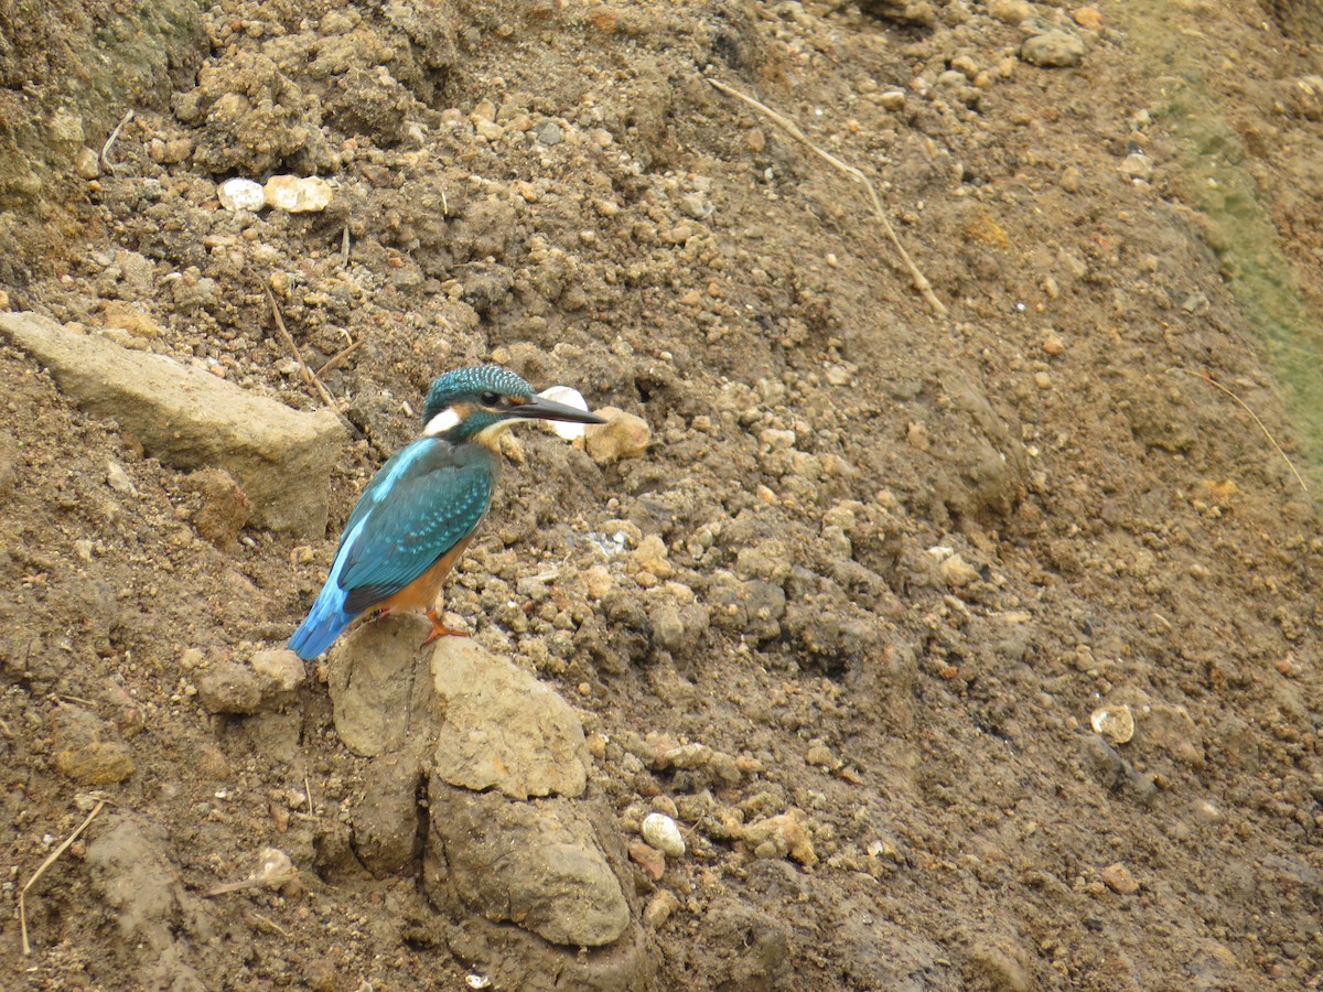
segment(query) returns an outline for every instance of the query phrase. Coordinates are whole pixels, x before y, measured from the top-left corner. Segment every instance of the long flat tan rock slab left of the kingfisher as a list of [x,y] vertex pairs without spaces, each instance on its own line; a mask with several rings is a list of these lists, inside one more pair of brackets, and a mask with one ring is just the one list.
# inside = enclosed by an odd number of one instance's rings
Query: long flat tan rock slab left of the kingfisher
[[49,368],[79,407],[116,421],[152,458],[175,468],[228,471],[258,526],[325,534],[331,466],[347,440],[329,410],[291,410],[202,369],[37,313],[0,313],[0,336]]

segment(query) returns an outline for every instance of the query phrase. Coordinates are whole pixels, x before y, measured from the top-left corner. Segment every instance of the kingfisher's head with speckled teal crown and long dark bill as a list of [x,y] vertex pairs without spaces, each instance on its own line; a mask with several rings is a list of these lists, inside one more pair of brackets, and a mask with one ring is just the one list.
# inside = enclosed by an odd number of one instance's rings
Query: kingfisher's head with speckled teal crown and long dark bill
[[515,421],[606,423],[597,414],[533,393],[533,388],[500,365],[472,365],[434,380],[423,406],[423,435],[495,447]]

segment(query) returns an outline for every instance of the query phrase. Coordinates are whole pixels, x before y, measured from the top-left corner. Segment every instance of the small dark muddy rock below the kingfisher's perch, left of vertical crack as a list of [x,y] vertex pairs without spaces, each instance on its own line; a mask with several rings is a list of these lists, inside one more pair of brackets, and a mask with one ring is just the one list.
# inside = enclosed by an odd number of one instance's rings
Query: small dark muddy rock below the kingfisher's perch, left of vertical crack
[[409,757],[382,755],[368,768],[351,827],[359,860],[377,878],[404,873],[422,852],[421,780],[421,768]]

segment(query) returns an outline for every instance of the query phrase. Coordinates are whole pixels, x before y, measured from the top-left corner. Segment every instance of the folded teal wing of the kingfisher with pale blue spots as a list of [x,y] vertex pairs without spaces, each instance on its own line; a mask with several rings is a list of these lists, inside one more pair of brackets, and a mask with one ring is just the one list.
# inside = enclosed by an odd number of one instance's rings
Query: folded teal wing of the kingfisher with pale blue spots
[[394,595],[474,532],[491,504],[496,466],[480,446],[421,438],[359,497],[333,574],[357,612]]

